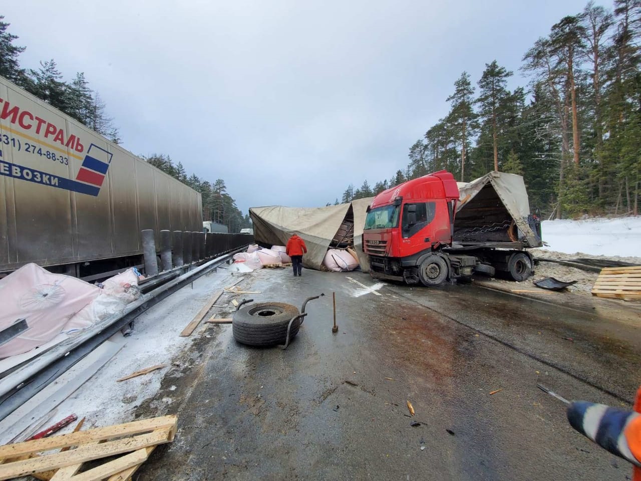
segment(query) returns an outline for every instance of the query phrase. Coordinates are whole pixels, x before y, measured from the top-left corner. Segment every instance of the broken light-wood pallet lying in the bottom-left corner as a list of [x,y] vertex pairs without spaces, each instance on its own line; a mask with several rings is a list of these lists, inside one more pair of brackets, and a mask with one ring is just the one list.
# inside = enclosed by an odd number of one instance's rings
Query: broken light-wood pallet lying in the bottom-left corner
[[[158,444],[174,440],[177,427],[176,416],[162,416],[5,444],[0,446],[0,480],[24,475],[51,481],[130,480]],[[71,446],[76,448],[64,450]],[[58,448],[63,450],[52,452]],[[79,472],[83,463],[103,459],[109,460]]]

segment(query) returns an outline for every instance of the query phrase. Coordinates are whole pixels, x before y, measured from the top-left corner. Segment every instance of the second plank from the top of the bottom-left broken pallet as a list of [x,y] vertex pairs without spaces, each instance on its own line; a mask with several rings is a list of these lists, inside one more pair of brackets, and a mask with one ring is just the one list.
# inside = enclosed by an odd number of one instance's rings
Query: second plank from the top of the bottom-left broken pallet
[[[0,464],[0,480],[24,476],[30,473],[38,473],[40,471],[49,471],[49,469],[64,468],[65,466],[69,466],[70,464],[91,461],[94,459],[101,459],[104,457],[114,456],[122,453],[128,453],[131,451],[146,448],[147,446],[169,443],[170,441],[172,441],[172,439],[173,435],[171,428],[164,428],[155,430],[154,432],[151,432],[149,434],[140,434],[134,437],[118,439],[117,441],[107,441],[106,443],[101,444],[78,446],[78,448],[70,451],[58,452],[22,461]],[[38,439],[37,441],[40,440]],[[126,466],[122,469],[126,469],[128,467],[129,466]]]

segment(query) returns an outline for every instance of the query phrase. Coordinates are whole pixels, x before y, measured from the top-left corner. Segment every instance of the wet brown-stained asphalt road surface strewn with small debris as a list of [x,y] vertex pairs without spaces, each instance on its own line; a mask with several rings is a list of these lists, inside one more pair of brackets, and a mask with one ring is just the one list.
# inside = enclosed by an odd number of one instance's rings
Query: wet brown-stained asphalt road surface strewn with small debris
[[138,410],[179,415],[174,443],[139,479],[629,479],[629,465],[574,432],[536,384],[629,407],[640,324],[474,285],[385,284],[376,295],[347,277],[376,285],[362,273],[247,274],[240,286],[262,291],[256,301],[329,296],[308,304],[285,351],[237,344],[231,325],[199,328],[156,396],[169,408]]

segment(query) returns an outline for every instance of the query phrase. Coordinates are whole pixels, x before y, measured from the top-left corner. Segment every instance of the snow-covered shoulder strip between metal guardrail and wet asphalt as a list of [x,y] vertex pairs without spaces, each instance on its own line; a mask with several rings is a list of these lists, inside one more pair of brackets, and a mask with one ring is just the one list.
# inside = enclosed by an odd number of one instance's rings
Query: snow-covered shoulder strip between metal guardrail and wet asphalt
[[[63,401],[58,407],[56,420],[71,413],[78,418],[86,416],[83,429],[131,421],[140,403],[153,397],[160,389],[163,376],[172,369],[172,359],[197,339],[197,332],[203,325],[196,328],[190,337],[180,337],[179,333],[212,297],[213,291],[231,285],[235,280],[227,271],[206,274],[194,281],[193,289],[187,285],[138,316],[133,332],[125,338],[124,348]],[[167,367],[116,382],[123,376],[156,364],[167,364]],[[167,402],[171,400],[167,398]],[[60,434],[71,430],[74,424]]]

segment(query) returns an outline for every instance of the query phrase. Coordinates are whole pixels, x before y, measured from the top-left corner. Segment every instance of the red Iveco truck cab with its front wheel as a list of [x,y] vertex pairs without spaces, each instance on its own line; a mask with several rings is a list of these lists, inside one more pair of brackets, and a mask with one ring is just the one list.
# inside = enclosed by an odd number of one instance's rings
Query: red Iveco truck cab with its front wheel
[[363,230],[363,249],[372,276],[409,283],[420,280],[425,285],[443,282],[451,263],[438,251],[452,244],[458,196],[456,180],[447,171],[378,194]]

